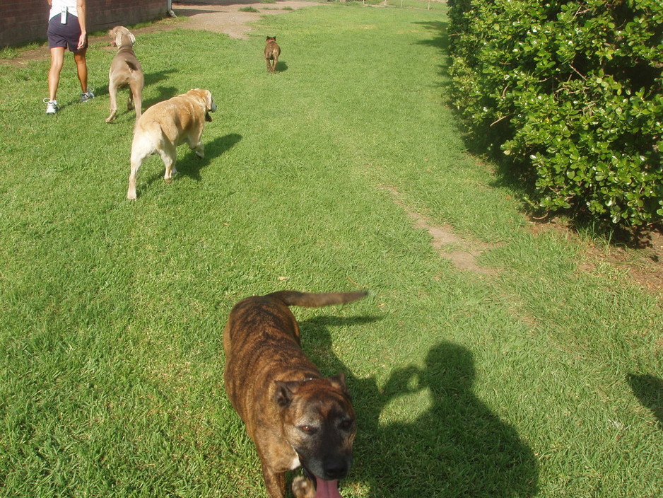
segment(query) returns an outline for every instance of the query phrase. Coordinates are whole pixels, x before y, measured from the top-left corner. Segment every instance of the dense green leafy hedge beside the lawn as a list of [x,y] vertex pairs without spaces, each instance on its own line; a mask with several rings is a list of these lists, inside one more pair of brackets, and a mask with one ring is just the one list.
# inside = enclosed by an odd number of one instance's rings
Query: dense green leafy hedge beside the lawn
[[548,212],[663,220],[663,1],[449,0],[454,105]]

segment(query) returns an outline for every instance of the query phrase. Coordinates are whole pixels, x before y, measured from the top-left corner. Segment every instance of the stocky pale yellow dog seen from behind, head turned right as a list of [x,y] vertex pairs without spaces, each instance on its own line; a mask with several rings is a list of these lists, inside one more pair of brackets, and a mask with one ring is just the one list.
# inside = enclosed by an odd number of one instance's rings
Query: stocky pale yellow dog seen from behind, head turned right
[[136,173],[143,161],[159,154],[165,165],[163,179],[170,182],[175,170],[177,146],[187,142],[196,155],[204,157],[205,146],[200,141],[210,112],[216,103],[209,90],[195,88],[177,97],[164,100],[146,110],[136,122],[134,141],[131,143],[131,173],[127,199],[136,199]]

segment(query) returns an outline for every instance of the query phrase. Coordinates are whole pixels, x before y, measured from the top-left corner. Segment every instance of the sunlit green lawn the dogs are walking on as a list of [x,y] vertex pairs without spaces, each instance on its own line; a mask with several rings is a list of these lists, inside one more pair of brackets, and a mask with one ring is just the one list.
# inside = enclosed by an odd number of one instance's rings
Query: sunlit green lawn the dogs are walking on
[[[467,153],[444,12],[330,3],[255,27],[138,36],[146,105],[201,87],[219,110],[206,158],[181,147],[170,185],[146,161],[135,202],[106,44],[86,104],[68,54],[55,117],[47,59],[0,66],[0,495],[264,496],[223,390],[228,311],[362,288],[295,309],[353,392],[345,497],[661,496],[660,303],[534,235],[522,192]],[[495,273],[457,270],[406,209],[490,243]]]

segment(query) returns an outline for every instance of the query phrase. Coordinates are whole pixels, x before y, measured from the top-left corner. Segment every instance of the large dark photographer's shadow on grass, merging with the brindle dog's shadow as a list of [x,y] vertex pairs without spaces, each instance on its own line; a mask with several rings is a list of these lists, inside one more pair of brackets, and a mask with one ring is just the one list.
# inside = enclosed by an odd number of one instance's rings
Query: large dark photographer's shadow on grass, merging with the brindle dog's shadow
[[[355,463],[341,487],[368,485],[372,498],[507,498],[538,492],[532,449],[472,391],[475,369],[469,349],[440,342],[428,352],[423,369],[396,369],[378,386],[375,378],[352,376],[331,353],[327,327],[337,320],[315,318],[300,325],[323,374],[346,373],[353,396]],[[406,422],[381,421],[390,401],[422,390],[430,396],[427,410]]]

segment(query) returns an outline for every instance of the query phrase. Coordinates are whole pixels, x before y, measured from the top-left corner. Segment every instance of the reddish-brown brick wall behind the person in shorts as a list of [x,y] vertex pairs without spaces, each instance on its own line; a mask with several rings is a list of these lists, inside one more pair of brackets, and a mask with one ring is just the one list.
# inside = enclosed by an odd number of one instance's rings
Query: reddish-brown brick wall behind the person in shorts
[[[87,0],[88,32],[165,16],[168,0]],[[46,40],[47,0],[0,0],[0,47]]]

